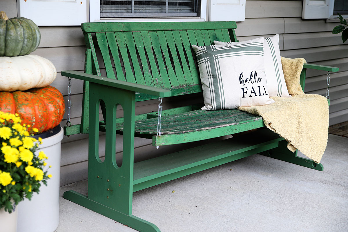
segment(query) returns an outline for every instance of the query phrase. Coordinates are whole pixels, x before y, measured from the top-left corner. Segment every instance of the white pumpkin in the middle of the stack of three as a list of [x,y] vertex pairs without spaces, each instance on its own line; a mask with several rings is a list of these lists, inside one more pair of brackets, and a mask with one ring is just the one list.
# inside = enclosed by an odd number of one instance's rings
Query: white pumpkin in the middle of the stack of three
[[56,67],[37,55],[0,57],[0,91],[27,90],[48,86],[57,77]]

